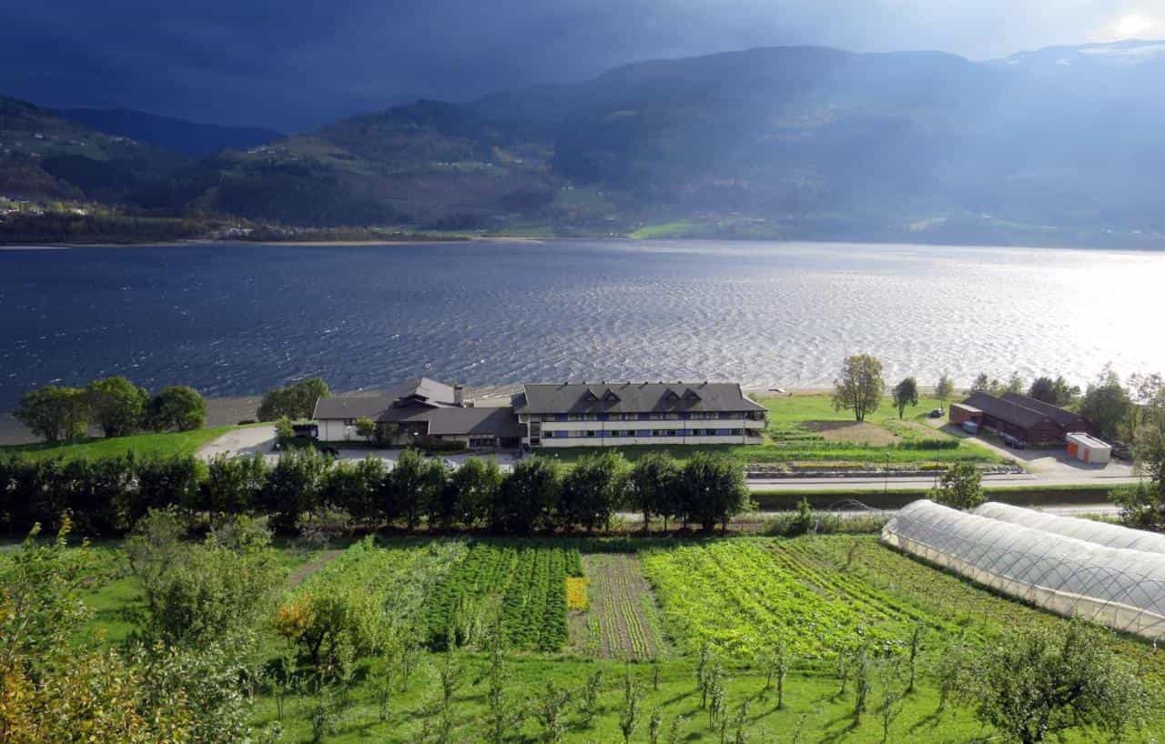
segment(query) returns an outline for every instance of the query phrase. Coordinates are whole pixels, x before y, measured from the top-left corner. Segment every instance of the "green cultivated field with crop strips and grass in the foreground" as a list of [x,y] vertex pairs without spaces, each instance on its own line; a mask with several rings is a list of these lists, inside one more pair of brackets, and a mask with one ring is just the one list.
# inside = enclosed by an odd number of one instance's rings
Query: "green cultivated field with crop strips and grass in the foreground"
[[[97,610],[93,632],[116,645],[133,632],[142,600],[119,546],[98,550],[103,571],[86,602]],[[919,682],[889,741],[986,739],[991,731],[968,710],[951,704],[939,711],[945,652],[955,643],[982,644],[1014,630],[1066,623],[896,553],[873,536],[366,538],[343,551],[283,546],[278,553],[287,572],[283,597],[276,617],[255,629],[270,659],[289,647],[277,629],[294,623],[313,593],[372,608],[369,638],[388,633],[416,644],[416,671],[407,683],[396,682],[387,714],[376,680],[395,662],[393,654],[358,657],[350,704],[323,738],[334,744],[436,741],[431,711],[451,664],[464,674],[453,695],[450,741],[481,741],[495,628],[503,630],[506,704],[515,713],[508,742],[543,741],[538,711],[551,693],[565,695],[563,741],[622,741],[628,676],[642,714],[633,742],[648,742],[648,720],[657,709],[664,731],[678,721],[678,741],[720,742],[720,725],[709,724],[696,685],[701,654],[720,669],[726,715],[749,742],[881,742],[874,708],[855,723],[853,680],[842,694],[838,657],[863,645],[880,660],[901,660],[916,628],[922,628]],[[1160,656],[1135,639],[1107,638],[1159,694]],[[790,660],[779,708],[758,660],[777,645]],[[585,713],[584,688],[596,672],[594,709]],[[871,694],[876,704],[876,681]],[[261,689],[255,725],[276,721],[282,707],[281,741],[311,742],[310,692],[282,702]],[[1163,734],[1165,720],[1158,718],[1124,741],[1157,741]]]

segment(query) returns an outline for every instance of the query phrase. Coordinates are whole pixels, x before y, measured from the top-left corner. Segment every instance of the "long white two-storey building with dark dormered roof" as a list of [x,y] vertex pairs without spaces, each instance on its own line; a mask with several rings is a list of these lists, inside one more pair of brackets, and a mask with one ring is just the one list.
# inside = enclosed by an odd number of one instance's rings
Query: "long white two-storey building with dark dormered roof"
[[760,444],[765,426],[737,383],[527,384],[514,412],[535,448]]

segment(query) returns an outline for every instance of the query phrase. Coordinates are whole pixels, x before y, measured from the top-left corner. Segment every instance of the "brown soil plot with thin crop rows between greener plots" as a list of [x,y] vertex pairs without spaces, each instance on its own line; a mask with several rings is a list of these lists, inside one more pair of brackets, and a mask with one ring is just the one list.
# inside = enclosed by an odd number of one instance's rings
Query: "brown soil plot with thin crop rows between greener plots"
[[658,607],[634,555],[582,557],[591,608],[573,614],[571,646],[605,659],[652,659],[665,651]]

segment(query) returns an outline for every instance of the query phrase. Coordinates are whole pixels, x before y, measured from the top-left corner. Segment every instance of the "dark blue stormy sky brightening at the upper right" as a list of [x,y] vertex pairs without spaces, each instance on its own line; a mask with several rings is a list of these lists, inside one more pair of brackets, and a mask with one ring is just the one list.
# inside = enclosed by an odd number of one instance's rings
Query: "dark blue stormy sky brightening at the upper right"
[[973,59],[1165,37],[1165,0],[0,0],[0,94],[302,132],[785,44]]

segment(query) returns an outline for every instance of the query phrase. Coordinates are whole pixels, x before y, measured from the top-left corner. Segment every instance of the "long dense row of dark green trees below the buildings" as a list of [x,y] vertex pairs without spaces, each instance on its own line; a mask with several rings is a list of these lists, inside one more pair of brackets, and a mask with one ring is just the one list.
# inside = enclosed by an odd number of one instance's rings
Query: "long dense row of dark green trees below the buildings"
[[391,470],[379,458],[333,462],[315,449],[288,452],[275,465],[261,455],[209,463],[191,456],[0,459],[0,518],[13,531],[68,513],[86,533],[116,533],[168,506],[206,512],[212,523],[269,515],[283,531],[339,511],[369,529],[401,522],[411,530],[425,522],[436,530],[527,534],[608,527],[622,509],[642,513],[644,526],[663,517],[708,531],[726,527],[749,501],[742,466],[707,453],[683,465],[651,453],[631,466],[608,452],[569,470],[535,458],[511,473],[476,459],[450,470],[412,449]]

